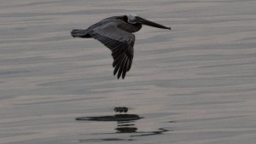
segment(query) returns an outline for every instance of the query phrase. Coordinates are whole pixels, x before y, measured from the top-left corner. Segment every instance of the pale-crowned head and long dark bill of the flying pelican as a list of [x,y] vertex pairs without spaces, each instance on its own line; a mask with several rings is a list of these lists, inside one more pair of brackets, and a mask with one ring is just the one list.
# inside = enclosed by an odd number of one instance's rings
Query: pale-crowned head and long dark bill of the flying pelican
[[167,26],[162,26],[160,24],[154,23],[152,21],[149,20],[145,20],[142,17],[137,16],[137,14],[127,14],[125,15],[127,18],[127,22],[130,24],[143,24],[143,25],[147,25],[147,26],[153,26],[153,27],[157,27],[157,28],[162,28],[162,29],[169,29],[171,30],[171,27],[167,27]]

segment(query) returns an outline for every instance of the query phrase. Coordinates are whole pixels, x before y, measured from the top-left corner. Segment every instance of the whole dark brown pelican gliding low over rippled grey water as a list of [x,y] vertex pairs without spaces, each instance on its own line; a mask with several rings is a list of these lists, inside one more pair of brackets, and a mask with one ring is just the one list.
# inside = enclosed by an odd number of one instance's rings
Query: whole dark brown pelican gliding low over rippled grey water
[[122,75],[124,79],[126,72],[131,69],[133,59],[135,36],[131,33],[138,32],[143,25],[171,30],[171,27],[145,20],[136,14],[127,14],[106,18],[88,29],[74,29],[71,35],[81,38],[92,37],[108,47],[112,51],[113,75],[118,73],[117,78]]

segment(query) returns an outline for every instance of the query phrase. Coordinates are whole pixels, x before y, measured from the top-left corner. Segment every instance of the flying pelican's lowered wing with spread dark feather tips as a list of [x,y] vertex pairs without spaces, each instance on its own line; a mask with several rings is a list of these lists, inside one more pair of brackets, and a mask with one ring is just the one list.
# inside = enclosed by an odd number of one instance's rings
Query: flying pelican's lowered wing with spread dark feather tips
[[118,73],[117,78],[122,75],[124,79],[126,72],[131,69],[135,36],[111,23],[95,28],[90,32],[90,36],[112,51],[113,75]]

